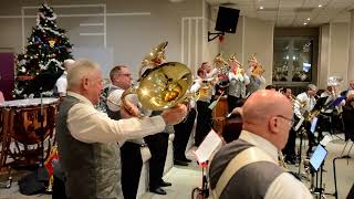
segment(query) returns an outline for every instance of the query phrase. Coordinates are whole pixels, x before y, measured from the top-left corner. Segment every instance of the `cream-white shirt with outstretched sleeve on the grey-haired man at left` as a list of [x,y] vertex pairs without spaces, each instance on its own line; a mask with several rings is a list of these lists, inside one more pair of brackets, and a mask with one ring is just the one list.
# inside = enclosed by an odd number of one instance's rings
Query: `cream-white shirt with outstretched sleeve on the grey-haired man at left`
[[116,143],[145,137],[165,129],[166,124],[162,116],[114,121],[96,111],[86,97],[73,92],[67,92],[67,95],[81,101],[70,108],[66,121],[71,135],[80,142]]

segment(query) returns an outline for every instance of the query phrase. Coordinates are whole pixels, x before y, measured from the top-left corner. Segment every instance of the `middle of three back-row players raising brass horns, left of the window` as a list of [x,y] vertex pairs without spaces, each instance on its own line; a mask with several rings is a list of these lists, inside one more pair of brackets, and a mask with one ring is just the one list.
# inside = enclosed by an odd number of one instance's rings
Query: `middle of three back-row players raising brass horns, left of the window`
[[230,72],[229,77],[229,90],[228,90],[228,106],[229,113],[238,106],[238,101],[246,98],[246,85],[250,83],[249,76],[246,74],[244,70],[241,69],[240,62],[236,56],[231,56],[230,61]]

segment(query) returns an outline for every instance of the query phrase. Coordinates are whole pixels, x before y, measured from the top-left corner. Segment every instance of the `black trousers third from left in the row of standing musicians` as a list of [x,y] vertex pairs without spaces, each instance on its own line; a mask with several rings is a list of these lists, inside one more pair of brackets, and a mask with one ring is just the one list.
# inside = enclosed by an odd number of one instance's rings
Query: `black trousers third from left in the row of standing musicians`
[[186,158],[185,151],[196,119],[196,109],[191,108],[188,113],[187,119],[174,126],[174,157],[183,160]]

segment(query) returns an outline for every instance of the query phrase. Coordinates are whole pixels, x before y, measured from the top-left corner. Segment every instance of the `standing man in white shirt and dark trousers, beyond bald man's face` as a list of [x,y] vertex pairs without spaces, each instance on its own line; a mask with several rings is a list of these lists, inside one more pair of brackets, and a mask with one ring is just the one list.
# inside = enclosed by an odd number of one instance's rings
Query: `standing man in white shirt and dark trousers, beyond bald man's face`
[[[314,84],[309,84],[306,91],[300,93],[296,96],[296,101],[301,103],[294,103],[294,114],[298,119],[304,118],[305,113],[311,113],[314,105],[316,104],[315,95],[316,95],[317,87]],[[309,149],[306,155],[310,156],[312,151],[312,147],[315,145],[315,137],[314,134],[310,130],[311,122],[304,121],[303,125],[306,128],[308,138],[309,138]],[[301,156],[301,155],[300,155]]]

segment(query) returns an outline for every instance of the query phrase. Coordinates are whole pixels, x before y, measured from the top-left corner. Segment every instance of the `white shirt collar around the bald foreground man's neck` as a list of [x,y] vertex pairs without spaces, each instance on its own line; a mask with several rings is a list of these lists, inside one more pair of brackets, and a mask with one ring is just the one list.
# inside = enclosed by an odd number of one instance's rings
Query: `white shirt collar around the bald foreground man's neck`
[[246,140],[260,149],[263,149],[278,164],[278,149],[269,140],[251,132],[242,130],[239,139]]

